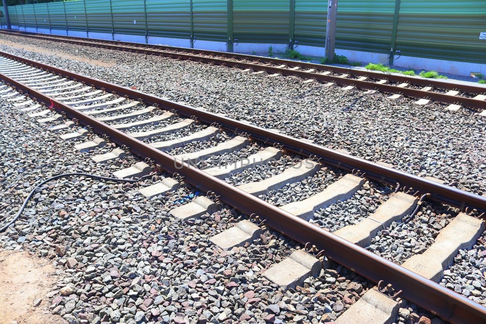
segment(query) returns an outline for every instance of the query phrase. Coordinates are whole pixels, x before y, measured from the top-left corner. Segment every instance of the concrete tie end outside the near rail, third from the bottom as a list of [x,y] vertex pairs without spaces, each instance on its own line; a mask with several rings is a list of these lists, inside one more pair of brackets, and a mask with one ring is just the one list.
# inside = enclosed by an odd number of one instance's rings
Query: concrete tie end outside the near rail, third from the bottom
[[246,242],[253,242],[262,234],[262,230],[254,223],[243,220],[233,227],[211,237],[209,241],[220,249],[227,251],[234,247],[244,246]]

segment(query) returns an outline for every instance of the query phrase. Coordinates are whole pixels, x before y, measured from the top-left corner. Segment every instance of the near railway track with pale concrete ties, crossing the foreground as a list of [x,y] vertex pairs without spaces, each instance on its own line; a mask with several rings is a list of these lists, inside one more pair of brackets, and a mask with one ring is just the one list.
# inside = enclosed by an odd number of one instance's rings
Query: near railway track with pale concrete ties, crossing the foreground
[[[81,152],[105,147],[107,142],[115,146],[92,156],[96,162],[109,163],[127,153],[144,161],[114,172],[117,177],[163,172],[163,180],[140,189],[147,198],[164,195],[184,183],[207,193],[173,209],[176,219],[211,214],[219,202],[250,215],[210,238],[216,246],[226,250],[244,245],[259,237],[261,226],[269,226],[306,247],[308,253],[296,250],[270,267],[263,274],[269,281],[284,289],[295,288],[309,275],[318,275],[322,263],[326,264],[325,256],[378,283],[378,289],[389,295],[369,290],[337,323],[364,321],[358,318],[360,309],[377,303],[386,307],[374,314],[374,320],[393,321],[399,307],[397,297],[452,323],[484,323],[485,307],[436,282],[458,249],[472,246],[484,232],[485,197],[181,103],[12,54],[0,55],[0,77],[7,83],[0,88],[2,98],[42,123],[53,123],[50,129],[66,140],[78,141],[75,148]],[[184,149],[193,142],[198,143],[195,148]],[[242,150],[244,154],[231,155]],[[208,158],[214,160],[214,156],[223,159],[210,165]],[[253,176],[263,173],[269,161],[276,171],[267,170],[257,180],[241,178],[248,171]],[[327,175],[332,179],[323,181]],[[319,181],[317,193],[280,207],[270,203],[275,203],[275,190],[303,181]],[[309,222],[316,210],[357,193],[359,197],[365,181],[370,188],[380,188],[386,199],[370,217],[345,223],[333,233]],[[384,184],[389,188],[380,187]],[[425,199],[458,208],[427,251],[399,266],[364,249],[382,228],[416,215]]]

